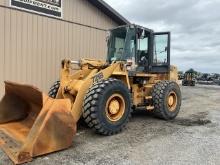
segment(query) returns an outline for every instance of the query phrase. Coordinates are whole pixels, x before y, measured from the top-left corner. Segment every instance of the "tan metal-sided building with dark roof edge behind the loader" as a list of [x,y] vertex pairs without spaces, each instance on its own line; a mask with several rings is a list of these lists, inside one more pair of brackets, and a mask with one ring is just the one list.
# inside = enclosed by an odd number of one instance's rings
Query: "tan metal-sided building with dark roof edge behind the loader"
[[47,91],[64,58],[103,59],[106,30],[129,23],[102,0],[1,0],[0,96],[4,80]]

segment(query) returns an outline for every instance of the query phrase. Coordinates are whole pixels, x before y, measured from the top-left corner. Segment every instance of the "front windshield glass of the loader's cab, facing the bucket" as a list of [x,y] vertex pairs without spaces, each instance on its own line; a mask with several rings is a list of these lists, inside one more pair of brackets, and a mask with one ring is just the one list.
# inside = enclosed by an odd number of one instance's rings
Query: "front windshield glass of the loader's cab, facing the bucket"
[[108,61],[125,61],[135,56],[135,30],[127,27],[111,31]]

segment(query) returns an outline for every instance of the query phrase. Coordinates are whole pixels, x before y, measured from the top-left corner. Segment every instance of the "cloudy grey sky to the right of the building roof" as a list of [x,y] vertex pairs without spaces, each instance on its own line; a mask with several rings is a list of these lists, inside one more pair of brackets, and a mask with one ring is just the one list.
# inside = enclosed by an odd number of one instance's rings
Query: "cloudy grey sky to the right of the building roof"
[[171,32],[171,63],[220,73],[220,0],[105,0],[131,23]]

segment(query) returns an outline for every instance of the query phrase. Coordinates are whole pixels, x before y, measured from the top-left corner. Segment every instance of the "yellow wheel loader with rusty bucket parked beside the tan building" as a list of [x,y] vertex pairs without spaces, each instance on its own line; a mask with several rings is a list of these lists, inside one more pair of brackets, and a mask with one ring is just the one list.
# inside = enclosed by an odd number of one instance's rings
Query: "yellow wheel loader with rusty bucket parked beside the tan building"
[[173,120],[181,106],[170,65],[170,32],[138,25],[112,29],[106,60],[65,59],[48,94],[6,81],[0,102],[0,144],[15,164],[71,146],[77,122],[101,135],[121,132],[132,111]]

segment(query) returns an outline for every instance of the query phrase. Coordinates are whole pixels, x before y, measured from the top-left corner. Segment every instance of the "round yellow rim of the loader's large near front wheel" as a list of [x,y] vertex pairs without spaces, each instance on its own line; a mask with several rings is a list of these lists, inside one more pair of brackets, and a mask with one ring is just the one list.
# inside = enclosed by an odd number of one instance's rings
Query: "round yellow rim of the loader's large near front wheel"
[[125,101],[120,94],[112,95],[106,103],[105,108],[107,118],[116,122],[119,121],[125,113]]

